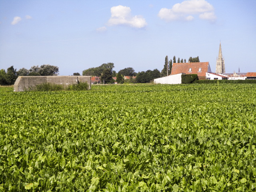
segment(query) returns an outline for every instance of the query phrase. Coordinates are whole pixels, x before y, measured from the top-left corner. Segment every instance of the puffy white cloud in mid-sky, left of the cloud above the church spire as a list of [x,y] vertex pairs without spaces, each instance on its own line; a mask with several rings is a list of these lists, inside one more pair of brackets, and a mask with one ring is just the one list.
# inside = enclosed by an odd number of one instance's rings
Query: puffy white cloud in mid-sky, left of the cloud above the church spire
[[118,5],[110,9],[111,18],[108,25],[128,25],[134,28],[143,28],[147,25],[146,20],[142,16],[131,16],[130,7]]

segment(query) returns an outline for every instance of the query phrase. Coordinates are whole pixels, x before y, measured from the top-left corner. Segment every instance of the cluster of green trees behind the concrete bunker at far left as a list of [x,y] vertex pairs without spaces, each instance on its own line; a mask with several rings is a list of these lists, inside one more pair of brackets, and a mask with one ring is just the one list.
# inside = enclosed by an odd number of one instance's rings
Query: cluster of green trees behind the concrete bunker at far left
[[32,66],[29,70],[21,68],[18,71],[10,66],[7,71],[0,70],[0,85],[12,85],[18,76],[53,76],[59,74],[59,68],[53,65]]

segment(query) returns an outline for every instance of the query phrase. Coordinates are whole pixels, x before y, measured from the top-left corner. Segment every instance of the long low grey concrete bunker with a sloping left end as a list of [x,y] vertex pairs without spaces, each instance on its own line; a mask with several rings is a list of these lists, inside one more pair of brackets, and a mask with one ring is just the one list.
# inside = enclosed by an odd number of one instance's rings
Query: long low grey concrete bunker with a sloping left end
[[43,83],[60,84],[64,87],[78,82],[87,82],[91,88],[91,76],[19,76],[14,83],[14,91],[34,90]]

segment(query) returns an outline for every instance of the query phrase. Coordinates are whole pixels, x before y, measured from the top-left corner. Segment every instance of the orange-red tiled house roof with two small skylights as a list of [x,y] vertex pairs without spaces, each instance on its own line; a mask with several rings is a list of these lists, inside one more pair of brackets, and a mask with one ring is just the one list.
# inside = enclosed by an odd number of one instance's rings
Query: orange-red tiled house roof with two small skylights
[[[191,68],[191,71],[189,69]],[[201,72],[199,72],[201,68]],[[206,72],[211,72],[209,62],[196,62],[196,63],[173,63],[171,75],[179,73],[197,74],[198,76],[206,76]]]

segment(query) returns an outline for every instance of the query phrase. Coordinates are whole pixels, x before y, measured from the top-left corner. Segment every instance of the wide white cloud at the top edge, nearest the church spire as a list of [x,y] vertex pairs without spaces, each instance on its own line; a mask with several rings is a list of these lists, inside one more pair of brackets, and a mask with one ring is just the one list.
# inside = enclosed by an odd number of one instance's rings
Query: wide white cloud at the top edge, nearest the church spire
[[199,15],[200,19],[214,22],[216,16],[214,14],[214,7],[206,0],[186,0],[182,3],[177,3],[171,9],[162,8],[158,17],[167,21],[194,19],[192,15]]

